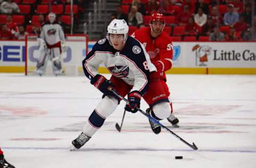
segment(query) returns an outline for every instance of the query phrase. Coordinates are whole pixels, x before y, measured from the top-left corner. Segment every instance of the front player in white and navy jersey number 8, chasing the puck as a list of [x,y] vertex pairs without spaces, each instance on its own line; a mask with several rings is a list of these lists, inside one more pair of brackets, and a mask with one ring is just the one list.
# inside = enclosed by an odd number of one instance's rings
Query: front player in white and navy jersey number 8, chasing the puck
[[[83,60],[86,77],[103,93],[103,98],[90,115],[83,132],[72,141],[77,149],[101,128],[105,119],[119,104],[121,99],[109,91],[109,87],[121,96],[128,95],[130,103],[126,107],[132,112],[138,111],[141,96],[148,89],[149,74],[156,70],[155,66],[150,62],[143,45],[129,37],[128,31],[125,20],[111,21],[107,27],[107,37],[99,40]],[[98,73],[101,63],[112,74],[110,80]]]

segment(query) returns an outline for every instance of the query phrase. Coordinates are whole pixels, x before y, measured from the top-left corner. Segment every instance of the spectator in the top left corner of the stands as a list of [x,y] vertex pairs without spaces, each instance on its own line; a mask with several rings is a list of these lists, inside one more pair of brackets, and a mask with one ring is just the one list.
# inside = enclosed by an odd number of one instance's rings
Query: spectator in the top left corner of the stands
[[20,13],[19,6],[13,0],[7,0],[2,2],[0,6],[0,13],[13,14]]

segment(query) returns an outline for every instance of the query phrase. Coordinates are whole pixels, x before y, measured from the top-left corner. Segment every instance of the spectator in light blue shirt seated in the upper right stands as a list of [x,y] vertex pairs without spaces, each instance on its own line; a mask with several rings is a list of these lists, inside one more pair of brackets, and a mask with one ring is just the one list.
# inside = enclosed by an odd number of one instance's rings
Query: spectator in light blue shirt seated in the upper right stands
[[233,26],[238,21],[239,15],[234,12],[234,5],[228,5],[228,12],[224,15],[224,24],[226,26]]

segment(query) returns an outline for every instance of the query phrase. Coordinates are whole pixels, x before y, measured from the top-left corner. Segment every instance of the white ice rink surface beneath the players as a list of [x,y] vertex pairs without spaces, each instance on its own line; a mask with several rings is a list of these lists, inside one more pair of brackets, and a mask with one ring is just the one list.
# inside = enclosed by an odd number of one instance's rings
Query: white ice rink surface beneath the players
[[161,122],[197,151],[164,130],[155,135],[139,112],[126,113],[117,132],[122,102],[81,150],[70,152],[100,91],[86,77],[22,74],[0,74],[0,146],[18,168],[256,167],[255,75],[169,75],[168,85],[180,128]]

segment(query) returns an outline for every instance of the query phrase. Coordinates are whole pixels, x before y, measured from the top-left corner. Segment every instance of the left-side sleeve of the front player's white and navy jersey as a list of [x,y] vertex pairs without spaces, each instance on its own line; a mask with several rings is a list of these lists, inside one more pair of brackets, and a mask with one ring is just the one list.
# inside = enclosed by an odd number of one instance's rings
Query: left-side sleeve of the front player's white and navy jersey
[[102,63],[100,54],[98,54],[100,47],[101,46],[96,43],[82,62],[84,74],[90,80],[98,74],[99,65]]

